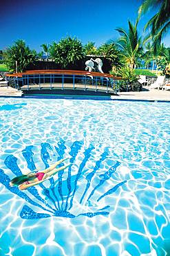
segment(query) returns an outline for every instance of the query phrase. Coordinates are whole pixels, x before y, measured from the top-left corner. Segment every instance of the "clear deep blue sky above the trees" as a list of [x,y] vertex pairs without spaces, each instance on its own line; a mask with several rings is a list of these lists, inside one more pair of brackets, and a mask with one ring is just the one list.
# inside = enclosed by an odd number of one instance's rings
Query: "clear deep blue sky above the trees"
[[[116,27],[135,21],[142,0],[6,0],[0,8],[0,49],[17,39],[41,51],[41,44],[58,42],[67,35],[96,46],[116,39]],[[154,12],[142,17],[139,32]],[[169,46],[170,36],[164,38]]]

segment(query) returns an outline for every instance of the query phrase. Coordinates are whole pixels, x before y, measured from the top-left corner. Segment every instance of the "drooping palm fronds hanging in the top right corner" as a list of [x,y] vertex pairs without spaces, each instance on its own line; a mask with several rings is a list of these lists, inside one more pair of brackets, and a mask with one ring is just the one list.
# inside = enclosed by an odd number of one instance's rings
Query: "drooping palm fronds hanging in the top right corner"
[[167,33],[170,26],[170,1],[169,0],[145,0],[138,10],[138,15],[145,14],[148,10],[159,8],[146,24],[145,28],[151,28],[153,37],[153,51],[156,53],[162,37]]

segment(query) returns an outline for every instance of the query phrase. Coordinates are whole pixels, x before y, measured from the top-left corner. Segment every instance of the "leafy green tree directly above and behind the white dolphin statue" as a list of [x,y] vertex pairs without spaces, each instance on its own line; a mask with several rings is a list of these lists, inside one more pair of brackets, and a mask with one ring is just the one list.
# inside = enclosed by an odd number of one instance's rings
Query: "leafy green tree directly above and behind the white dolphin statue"
[[120,54],[114,43],[103,44],[98,48],[98,54],[105,57],[105,59],[110,60],[111,66],[116,66],[118,68],[121,64]]

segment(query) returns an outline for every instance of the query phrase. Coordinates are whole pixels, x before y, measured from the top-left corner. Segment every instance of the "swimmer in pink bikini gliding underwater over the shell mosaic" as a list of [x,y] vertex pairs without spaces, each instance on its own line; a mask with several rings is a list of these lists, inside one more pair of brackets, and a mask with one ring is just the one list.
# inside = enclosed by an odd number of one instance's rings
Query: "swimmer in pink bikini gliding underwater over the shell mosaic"
[[30,188],[34,185],[37,185],[39,183],[42,183],[43,181],[46,181],[47,179],[50,179],[50,177],[56,172],[59,172],[61,170],[65,170],[69,165],[64,165],[62,167],[59,167],[56,169],[56,166],[63,163],[63,161],[67,160],[68,158],[62,159],[60,161],[57,161],[54,163],[54,165],[51,165],[47,169],[43,170],[42,172],[36,172],[32,173],[29,172],[28,174],[23,174],[21,176],[15,177],[10,181],[10,186],[18,186],[19,190],[26,190],[27,188]]

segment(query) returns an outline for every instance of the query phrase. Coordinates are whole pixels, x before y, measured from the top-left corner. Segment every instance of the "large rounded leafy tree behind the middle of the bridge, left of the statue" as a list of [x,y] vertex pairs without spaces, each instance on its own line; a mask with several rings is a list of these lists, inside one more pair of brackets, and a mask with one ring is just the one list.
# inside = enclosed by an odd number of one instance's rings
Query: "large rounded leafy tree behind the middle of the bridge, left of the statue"
[[83,59],[83,45],[76,38],[66,37],[61,39],[58,44],[52,43],[50,55],[61,68],[67,68],[70,64],[76,64],[78,60]]

